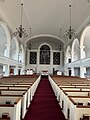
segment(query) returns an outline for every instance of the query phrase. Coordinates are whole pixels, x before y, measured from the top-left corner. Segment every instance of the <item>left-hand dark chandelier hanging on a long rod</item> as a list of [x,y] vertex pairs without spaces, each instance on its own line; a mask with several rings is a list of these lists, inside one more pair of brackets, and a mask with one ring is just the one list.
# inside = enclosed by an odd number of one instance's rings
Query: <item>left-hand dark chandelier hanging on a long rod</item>
[[14,32],[14,35],[19,37],[19,38],[25,38],[28,36],[25,28],[23,28],[22,19],[23,19],[23,4],[21,4],[21,19],[20,19],[21,23],[20,23],[19,28],[16,28],[16,32]]

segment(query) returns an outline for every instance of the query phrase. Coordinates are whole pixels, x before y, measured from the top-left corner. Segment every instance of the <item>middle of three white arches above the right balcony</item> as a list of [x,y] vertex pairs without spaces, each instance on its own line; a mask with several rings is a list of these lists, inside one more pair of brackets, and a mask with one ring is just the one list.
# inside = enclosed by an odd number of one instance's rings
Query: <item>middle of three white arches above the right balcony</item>
[[72,53],[72,62],[80,59],[80,47],[79,47],[78,39],[75,39],[73,41],[71,53]]

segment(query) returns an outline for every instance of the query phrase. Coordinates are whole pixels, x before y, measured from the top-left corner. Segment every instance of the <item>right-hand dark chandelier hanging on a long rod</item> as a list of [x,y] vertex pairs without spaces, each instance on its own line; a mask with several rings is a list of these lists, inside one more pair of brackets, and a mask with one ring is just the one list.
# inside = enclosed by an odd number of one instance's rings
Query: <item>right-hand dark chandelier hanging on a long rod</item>
[[69,39],[73,39],[77,36],[76,32],[75,32],[75,29],[72,29],[71,27],[71,5],[69,5],[69,12],[70,12],[70,26],[68,28],[68,30],[66,30],[66,33],[64,35],[64,37],[67,37]]

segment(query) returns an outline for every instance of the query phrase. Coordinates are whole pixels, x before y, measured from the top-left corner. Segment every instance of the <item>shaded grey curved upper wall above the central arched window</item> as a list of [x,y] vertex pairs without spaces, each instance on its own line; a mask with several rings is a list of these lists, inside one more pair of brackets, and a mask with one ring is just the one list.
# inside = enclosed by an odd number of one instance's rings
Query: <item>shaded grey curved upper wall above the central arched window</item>
[[32,49],[38,49],[41,44],[50,44],[52,49],[54,50],[60,50],[63,47],[63,43],[61,40],[55,37],[51,36],[38,36],[38,37],[33,37],[27,42],[27,47],[32,48]]

